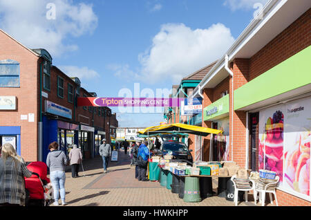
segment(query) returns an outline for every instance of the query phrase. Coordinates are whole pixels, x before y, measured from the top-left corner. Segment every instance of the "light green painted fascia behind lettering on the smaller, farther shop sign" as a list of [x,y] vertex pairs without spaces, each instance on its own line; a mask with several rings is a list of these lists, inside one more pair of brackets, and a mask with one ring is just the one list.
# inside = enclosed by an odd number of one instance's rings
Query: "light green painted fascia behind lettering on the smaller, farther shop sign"
[[[210,116],[207,116],[207,111],[211,111],[214,108],[217,108],[216,113],[212,113]],[[229,94],[225,95],[223,98],[220,98],[216,102],[209,104],[208,107],[205,107],[203,110],[203,120],[211,120],[212,118],[216,118],[225,113],[229,113]]]

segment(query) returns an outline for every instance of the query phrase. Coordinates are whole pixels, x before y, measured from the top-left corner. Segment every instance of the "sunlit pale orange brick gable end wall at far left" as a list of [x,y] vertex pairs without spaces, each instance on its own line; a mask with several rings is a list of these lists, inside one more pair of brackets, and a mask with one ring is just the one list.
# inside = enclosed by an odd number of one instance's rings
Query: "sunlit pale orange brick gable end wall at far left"
[[[39,57],[1,31],[0,48],[0,60],[14,59],[20,66],[20,88],[0,88],[1,95],[17,96],[17,111],[0,111],[0,125],[21,126],[21,156],[25,161],[37,161]],[[35,122],[21,120],[28,113],[35,113]]]

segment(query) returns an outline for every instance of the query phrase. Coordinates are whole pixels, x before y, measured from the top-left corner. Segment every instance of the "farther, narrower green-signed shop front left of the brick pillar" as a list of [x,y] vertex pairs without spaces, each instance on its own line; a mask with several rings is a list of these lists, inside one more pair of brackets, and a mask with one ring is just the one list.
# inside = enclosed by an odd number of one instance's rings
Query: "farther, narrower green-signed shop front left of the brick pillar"
[[209,161],[230,161],[229,158],[229,95],[205,107],[203,120],[211,122],[212,129],[223,131],[213,134],[210,142]]

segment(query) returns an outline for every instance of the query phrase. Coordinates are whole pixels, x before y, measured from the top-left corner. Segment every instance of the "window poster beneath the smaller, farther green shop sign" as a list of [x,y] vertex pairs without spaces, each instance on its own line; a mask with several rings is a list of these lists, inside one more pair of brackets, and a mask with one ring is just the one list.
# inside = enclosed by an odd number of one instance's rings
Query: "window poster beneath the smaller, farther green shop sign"
[[217,140],[217,158],[218,161],[229,161],[229,118],[225,120],[219,120],[218,130],[223,133],[218,134]]

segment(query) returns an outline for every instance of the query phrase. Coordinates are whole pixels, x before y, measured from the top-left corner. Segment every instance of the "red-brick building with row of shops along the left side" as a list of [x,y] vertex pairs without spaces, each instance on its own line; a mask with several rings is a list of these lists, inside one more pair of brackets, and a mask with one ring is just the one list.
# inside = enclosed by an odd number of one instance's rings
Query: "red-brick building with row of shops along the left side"
[[46,161],[48,144],[57,141],[68,154],[78,145],[85,158],[110,142],[113,118],[108,107],[77,107],[77,97],[95,97],[53,66],[44,49],[26,48],[0,30],[0,139],[12,143],[25,161]]

